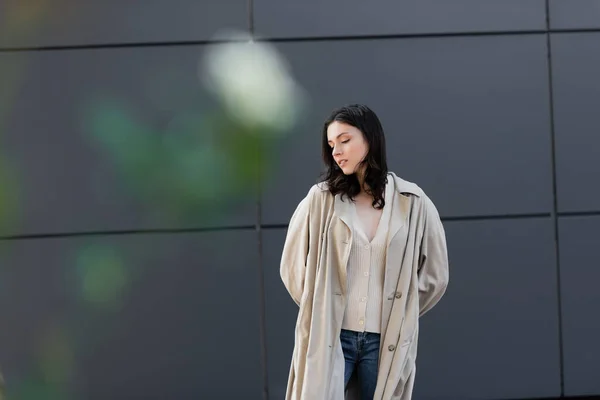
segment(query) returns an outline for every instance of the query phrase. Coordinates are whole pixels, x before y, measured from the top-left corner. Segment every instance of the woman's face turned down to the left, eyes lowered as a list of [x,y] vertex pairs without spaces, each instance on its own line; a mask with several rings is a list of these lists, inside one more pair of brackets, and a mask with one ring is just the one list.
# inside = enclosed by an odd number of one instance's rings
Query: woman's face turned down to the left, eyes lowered
[[343,122],[333,121],[327,127],[327,140],[336,164],[345,175],[357,172],[357,168],[369,152],[362,132]]

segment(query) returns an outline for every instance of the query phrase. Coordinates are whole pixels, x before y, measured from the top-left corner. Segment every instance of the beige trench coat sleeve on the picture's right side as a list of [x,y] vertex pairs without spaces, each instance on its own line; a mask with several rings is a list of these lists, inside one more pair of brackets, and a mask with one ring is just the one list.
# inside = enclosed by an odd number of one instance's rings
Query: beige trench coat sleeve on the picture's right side
[[449,280],[446,234],[439,213],[425,198],[425,230],[419,260],[419,316],[437,304],[446,292]]

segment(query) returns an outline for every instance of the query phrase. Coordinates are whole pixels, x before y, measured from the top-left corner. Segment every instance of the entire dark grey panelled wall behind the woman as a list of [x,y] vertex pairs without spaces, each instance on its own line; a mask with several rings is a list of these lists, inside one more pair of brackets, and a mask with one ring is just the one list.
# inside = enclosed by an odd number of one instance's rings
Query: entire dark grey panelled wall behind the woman
[[[0,265],[15,398],[281,399],[297,313],[279,280],[285,226],[320,171],[322,119],[350,102],[378,112],[391,169],[445,221],[451,284],[422,320],[416,399],[600,395],[600,0],[126,3],[63,1],[0,35],[22,215]],[[277,39],[311,107],[273,149],[260,214],[249,194],[216,219],[163,220],[90,144],[82,104],[119,93],[164,129],[179,97],[148,82],[196,85],[221,27]],[[127,282],[116,307],[80,300],[89,268],[109,292]]]

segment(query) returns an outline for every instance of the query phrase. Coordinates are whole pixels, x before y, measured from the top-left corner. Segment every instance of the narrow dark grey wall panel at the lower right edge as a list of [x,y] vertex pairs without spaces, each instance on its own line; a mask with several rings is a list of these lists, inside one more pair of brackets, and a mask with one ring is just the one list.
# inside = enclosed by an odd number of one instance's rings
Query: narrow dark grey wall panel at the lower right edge
[[565,395],[600,393],[600,217],[559,219]]

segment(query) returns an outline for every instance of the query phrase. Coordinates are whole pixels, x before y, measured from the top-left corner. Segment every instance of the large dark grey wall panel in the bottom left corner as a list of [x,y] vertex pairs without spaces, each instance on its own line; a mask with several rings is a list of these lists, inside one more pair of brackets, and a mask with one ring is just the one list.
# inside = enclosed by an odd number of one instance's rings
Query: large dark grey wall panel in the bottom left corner
[[46,356],[75,398],[261,399],[256,244],[252,231],[4,243],[8,387],[38,383]]

